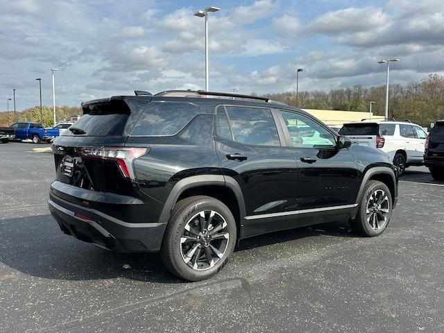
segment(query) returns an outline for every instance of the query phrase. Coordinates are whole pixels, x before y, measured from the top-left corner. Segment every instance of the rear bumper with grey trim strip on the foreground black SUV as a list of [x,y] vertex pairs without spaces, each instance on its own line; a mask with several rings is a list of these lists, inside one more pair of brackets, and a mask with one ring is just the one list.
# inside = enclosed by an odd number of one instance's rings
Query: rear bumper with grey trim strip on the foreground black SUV
[[65,234],[120,253],[159,251],[167,227],[167,223],[120,221],[102,212],[69,203],[53,194],[50,194],[49,210]]

